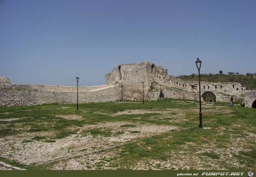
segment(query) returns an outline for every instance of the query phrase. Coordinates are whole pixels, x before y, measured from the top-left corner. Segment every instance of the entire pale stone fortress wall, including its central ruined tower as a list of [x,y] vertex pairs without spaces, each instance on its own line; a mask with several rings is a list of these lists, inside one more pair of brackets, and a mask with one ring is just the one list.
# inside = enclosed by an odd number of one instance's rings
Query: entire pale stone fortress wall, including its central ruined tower
[[[142,82],[144,82],[142,86]],[[153,88],[153,89],[152,89]],[[140,101],[157,100],[160,93],[167,98],[199,100],[198,81],[181,81],[168,75],[163,66],[153,62],[119,64],[105,74],[105,85],[78,87],[78,102],[107,102],[117,99]],[[229,102],[230,95],[238,99],[249,99],[245,107],[251,107],[255,95],[247,95],[245,86],[237,82],[201,82],[202,101],[206,95],[215,95],[213,101]],[[245,96],[244,96],[245,95]],[[77,87],[46,85],[13,85],[8,77],[0,77],[0,105],[35,105],[43,103],[76,103]]]

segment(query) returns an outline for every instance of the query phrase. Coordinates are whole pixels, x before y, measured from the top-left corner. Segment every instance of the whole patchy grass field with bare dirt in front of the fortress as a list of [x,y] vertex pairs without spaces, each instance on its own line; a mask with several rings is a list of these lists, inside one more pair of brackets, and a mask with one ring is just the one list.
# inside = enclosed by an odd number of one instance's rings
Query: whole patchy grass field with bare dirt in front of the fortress
[[0,107],[0,161],[28,170],[256,169],[256,109],[164,99]]

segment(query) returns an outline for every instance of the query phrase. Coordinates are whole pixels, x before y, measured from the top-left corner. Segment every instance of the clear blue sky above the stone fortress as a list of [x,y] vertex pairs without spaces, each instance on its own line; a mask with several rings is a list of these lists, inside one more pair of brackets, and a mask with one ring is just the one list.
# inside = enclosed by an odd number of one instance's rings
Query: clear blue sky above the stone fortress
[[256,73],[256,0],[0,0],[0,76],[104,85],[124,63]]

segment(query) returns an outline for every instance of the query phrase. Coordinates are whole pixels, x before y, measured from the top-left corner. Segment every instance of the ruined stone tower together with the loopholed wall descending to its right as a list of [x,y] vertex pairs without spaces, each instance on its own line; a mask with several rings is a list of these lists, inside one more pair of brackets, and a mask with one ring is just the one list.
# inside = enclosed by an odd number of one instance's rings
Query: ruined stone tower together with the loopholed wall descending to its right
[[[142,90],[141,82],[144,82],[144,90]],[[173,97],[187,97],[190,99],[191,93],[199,95],[198,81],[181,81],[178,78],[174,78],[172,75],[168,75],[167,69],[163,66],[155,66],[154,63],[145,61],[142,63],[132,64],[120,64],[116,66],[111,73],[105,75],[105,84],[120,84],[122,86],[122,94],[129,100],[142,100],[144,95],[151,95],[149,93],[150,86],[157,83],[157,85],[182,89],[186,92],[182,92],[175,96],[175,93],[171,89],[167,89]],[[175,89],[177,90],[177,89]],[[215,101],[227,102],[229,96],[233,95],[240,97],[244,95],[246,90],[245,86],[242,86],[237,82],[228,83],[211,83],[201,82],[201,95],[205,100],[205,95],[208,92],[212,92],[216,95]],[[188,95],[185,93],[189,93]],[[153,94],[154,95],[154,94]],[[157,95],[157,94],[156,94]],[[239,98],[241,99],[241,98]]]

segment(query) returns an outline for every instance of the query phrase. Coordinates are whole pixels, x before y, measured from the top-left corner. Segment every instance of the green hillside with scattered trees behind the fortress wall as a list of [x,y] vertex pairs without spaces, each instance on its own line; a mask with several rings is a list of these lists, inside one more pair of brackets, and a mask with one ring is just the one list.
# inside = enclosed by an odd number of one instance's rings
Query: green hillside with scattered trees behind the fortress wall
[[[256,73],[251,74],[247,73],[246,75],[228,72],[228,74],[220,74],[222,71],[220,70],[219,74],[200,74],[200,80],[204,82],[239,82],[243,86],[246,86],[247,89],[256,90]],[[179,79],[183,81],[198,81],[198,74],[191,75],[181,75],[178,76]]]

